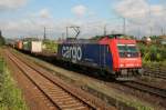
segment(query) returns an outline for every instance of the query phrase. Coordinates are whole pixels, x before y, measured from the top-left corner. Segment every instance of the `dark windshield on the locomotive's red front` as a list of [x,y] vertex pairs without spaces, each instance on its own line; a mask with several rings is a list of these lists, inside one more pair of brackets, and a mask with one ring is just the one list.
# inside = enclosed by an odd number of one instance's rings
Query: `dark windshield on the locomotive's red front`
[[117,44],[121,58],[137,58],[138,49],[135,44]]

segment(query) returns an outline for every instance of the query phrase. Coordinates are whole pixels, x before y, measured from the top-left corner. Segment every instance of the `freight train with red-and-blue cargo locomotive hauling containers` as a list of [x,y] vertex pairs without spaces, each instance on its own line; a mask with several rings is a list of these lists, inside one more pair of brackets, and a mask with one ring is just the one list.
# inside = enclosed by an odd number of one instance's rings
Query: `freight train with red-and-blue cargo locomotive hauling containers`
[[[19,41],[19,50],[42,53],[42,43],[32,41],[30,49],[23,48],[24,41]],[[22,44],[19,44],[22,43]],[[38,44],[39,47],[37,47]],[[35,44],[35,46],[34,46]],[[22,46],[22,48],[21,48]],[[101,70],[115,79],[125,80],[142,72],[142,58],[132,39],[105,36],[101,39],[72,39],[58,42],[55,59],[63,63],[73,63]],[[33,47],[40,48],[34,51]],[[90,71],[91,72],[91,71]]]

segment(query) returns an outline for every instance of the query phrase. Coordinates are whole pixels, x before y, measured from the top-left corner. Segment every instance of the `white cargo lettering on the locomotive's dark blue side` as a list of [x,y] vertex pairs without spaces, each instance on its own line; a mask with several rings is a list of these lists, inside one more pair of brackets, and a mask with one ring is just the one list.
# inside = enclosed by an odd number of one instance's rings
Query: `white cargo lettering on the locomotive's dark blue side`
[[62,57],[72,59],[72,61],[80,61],[82,59],[82,49],[81,47],[62,47]]

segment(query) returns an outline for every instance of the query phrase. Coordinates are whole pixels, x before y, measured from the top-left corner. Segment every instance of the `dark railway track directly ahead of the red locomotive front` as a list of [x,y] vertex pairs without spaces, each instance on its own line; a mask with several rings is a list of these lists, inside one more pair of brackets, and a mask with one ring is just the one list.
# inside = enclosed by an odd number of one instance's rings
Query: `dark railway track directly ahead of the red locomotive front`
[[138,82],[138,81],[128,81],[128,82],[123,82],[122,84],[125,86],[125,87],[135,89],[135,90],[139,90],[142,92],[153,94],[155,97],[166,99],[166,90],[165,89],[160,89],[160,88],[157,88],[157,87],[145,84],[145,83],[142,83],[142,82]]

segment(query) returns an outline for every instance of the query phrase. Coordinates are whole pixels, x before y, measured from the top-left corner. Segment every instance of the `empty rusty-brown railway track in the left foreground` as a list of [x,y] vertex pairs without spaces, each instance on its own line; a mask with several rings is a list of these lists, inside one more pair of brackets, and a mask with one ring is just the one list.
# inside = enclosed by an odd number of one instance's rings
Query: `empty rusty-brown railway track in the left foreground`
[[103,101],[95,99],[87,93],[80,91],[71,86],[64,84],[56,78],[41,72],[42,69],[32,67],[22,59],[17,58],[9,51],[8,57],[23,72],[23,74],[39,89],[49,100],[54,109],[59,110],[113,110]]

